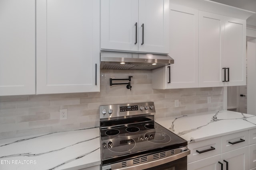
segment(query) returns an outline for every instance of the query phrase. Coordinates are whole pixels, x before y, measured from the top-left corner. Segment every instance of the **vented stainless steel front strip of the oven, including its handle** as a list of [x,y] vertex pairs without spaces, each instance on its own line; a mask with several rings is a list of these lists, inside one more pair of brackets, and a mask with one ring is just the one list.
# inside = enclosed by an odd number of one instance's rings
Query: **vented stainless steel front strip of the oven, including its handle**
[[144,170],[170,163],[183,158],[188,154],[190,154],[190,150],[187,147],[182,147],[106,165],[102,167],[102,170]]

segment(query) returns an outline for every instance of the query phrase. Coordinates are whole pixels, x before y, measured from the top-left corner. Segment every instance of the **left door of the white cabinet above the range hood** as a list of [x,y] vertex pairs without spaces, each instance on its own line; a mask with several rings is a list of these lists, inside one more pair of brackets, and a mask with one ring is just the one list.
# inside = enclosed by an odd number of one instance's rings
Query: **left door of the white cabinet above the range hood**
[[101,0],[100,8],[100,48],[138,51],[138,0]]

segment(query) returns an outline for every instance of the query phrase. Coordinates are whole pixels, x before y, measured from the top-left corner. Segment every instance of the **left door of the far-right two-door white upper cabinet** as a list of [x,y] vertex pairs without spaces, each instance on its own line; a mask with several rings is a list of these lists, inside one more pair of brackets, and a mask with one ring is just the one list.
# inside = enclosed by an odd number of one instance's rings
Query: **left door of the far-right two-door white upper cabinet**
[[199,87],[224,86],[224,16],[199,12]]

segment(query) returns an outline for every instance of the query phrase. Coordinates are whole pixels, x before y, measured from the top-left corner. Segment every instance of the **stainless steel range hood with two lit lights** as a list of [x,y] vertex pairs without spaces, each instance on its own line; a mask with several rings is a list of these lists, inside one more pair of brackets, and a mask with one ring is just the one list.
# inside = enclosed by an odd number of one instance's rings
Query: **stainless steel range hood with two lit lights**
[[153,70],[173,63],[174,59],[169,55],[115,51],[100,52],[101,69]]

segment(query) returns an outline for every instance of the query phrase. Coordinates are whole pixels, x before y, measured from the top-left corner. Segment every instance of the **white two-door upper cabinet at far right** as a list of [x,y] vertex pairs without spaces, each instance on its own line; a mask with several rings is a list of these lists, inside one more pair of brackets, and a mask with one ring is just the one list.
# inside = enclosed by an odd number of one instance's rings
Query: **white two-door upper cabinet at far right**
[[199,12],[199,86],[246,84],[246,20]]

